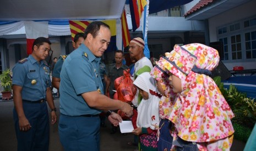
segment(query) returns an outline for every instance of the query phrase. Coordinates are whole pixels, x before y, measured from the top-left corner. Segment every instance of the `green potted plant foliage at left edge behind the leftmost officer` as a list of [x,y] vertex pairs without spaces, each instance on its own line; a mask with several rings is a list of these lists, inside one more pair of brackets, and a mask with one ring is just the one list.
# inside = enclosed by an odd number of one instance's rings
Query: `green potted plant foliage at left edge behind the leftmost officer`
[[12,90],[12,77],[10,75],[10,69],[6,69],[0,74],[1,86],[3,87],[3,91],[11,91]]

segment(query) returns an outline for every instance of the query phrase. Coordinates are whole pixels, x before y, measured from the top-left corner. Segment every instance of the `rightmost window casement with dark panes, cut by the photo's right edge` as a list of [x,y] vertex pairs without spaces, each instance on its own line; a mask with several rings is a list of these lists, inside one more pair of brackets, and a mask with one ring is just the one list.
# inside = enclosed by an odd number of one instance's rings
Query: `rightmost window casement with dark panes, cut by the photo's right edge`
[[244,34],[246,42],[246,59],[256,58],[256,31]]

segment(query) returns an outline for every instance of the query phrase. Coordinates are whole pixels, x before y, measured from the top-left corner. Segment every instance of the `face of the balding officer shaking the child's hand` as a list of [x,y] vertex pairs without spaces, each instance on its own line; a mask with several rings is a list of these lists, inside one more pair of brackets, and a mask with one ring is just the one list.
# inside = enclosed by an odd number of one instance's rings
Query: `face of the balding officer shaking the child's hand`
[[92,35],[89,36],[89,49],[92,54],[96,57],[101,57],[104,54],[104,51],[107,49],[108,44],[110,44],[111,32],[107,27],[101,26],[100,30],[95,38]]

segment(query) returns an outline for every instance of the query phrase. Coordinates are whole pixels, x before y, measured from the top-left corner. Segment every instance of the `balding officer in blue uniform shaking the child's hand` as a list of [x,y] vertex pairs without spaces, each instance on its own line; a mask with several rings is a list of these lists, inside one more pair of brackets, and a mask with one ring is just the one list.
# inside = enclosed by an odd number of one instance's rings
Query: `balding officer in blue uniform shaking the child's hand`
[[[68,55],[61,70],[59,138],[64,150],[99,151],[99,114],[120,109],[130,117],[133,108],[104,95],[99,63],[110,43],[110,27],[94,21],[84,33],[84,43]],[[122,121],[115,112],[106,115],[115,126]]]

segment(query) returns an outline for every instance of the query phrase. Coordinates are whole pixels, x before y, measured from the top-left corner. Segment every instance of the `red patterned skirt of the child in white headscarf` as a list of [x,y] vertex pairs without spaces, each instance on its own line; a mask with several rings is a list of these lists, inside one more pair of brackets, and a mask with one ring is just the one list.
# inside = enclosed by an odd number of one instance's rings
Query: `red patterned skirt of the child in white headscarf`
[[145,147],[157,148],[157,137],[156,132],[152,132],[149,135],[141,135],[140,143]]

